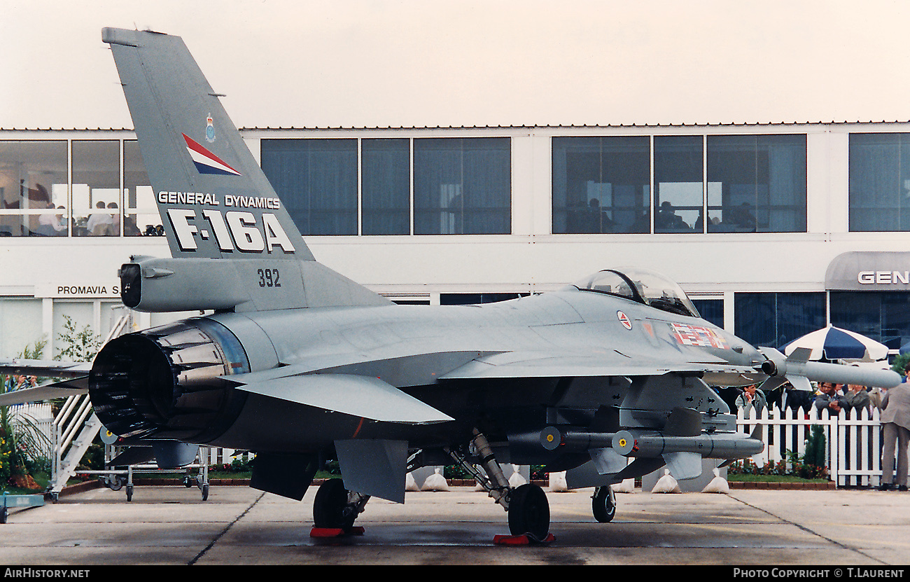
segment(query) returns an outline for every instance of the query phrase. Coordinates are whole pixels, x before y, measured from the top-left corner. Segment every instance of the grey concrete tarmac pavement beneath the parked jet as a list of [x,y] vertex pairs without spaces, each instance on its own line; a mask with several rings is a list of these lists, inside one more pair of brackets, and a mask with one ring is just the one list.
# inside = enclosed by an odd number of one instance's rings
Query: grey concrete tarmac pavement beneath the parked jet
[[[540,546],[500,546],[506,514],[482,492],[414,492],[404,505],[371,499],[363,536],[310,537],[303,501],[242,486],[100,488],[10,511],[0,563],[97,565],[910,565],[910,494],[874,490],[744,490],[617,494],[612,523],[591,515],[591,489],[548,491],[551,533]],[[833,569],[830,576],[837,577]],[[768,576],[765,576],[768,577]],[[773,577],[773,576],[771,576]],[[869,576],[866,576],[869,577]]]

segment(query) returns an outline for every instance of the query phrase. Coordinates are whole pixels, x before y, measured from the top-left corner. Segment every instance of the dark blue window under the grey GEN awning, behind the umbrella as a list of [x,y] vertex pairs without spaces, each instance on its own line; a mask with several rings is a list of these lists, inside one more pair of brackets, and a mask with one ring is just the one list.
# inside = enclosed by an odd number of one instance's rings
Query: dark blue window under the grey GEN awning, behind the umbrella
[[897,350],[910,342],[910,293],[831,291],[831,323]]

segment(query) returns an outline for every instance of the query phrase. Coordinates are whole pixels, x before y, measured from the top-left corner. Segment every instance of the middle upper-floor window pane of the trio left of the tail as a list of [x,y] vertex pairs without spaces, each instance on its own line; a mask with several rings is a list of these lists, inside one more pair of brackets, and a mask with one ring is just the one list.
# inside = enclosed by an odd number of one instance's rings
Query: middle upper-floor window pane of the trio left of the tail
[[73,141],[71,209],[73,236],[119,236],[119,141]]

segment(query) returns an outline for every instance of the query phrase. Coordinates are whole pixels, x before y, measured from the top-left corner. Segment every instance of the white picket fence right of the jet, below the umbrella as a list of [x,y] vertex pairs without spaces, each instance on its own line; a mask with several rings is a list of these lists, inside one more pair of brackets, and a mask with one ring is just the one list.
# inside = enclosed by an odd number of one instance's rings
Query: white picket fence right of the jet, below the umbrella
[[765,447],[753,457],[756,465],[786,462],[788,450],[802,456],[812,427],[819,424],[824,428],[828,473],[837,486],[875,486],[881,482],[882,436],[877,408],[829,414],[813,407],[806,414],[802,409],[781,411],[774,406],[765,408],[761,415],[752,412],[752,418],[746,418],[745,411],[740,410],[736,424],[745,434],[752,434],[756,424],[761,426]]

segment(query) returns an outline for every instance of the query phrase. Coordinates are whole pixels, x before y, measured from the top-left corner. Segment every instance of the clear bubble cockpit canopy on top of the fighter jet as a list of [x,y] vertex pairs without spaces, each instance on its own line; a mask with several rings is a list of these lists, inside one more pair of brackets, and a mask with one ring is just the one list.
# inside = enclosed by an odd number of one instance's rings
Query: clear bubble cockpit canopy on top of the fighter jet
[[597,291],[625,297],[650,305],[654,309],[679,315],[701,317],[685,291],[676,284],[653,271],[628,268],[617,271],[597,271],[590,277],[574,284],[581,291]]

